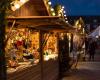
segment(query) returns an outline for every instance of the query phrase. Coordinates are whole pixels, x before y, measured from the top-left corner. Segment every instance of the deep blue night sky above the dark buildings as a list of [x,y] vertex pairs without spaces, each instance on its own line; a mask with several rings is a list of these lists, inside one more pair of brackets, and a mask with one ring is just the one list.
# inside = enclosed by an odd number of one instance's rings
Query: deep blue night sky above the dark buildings
[[65,6],[70,16],[100,16],[100,0],[51,0]]

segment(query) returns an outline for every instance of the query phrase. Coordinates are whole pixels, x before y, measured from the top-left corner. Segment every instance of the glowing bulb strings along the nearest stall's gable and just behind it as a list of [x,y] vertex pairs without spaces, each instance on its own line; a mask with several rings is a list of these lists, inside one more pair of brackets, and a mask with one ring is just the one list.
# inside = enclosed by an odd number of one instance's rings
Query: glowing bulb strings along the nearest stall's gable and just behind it
[[[22,5],[24,5],[26,2],[28,2],[29,0],[14,0],[11,5],[12,5],[12,10],[15,11],[17,9],[19,9]],[[59,16],[61,18],[64,19],[64,21],[66,23],[68,23],[67,20],[67,15],[66,15],[66,11],[65,11],[65,7],[62,5],[59,5],[59,9],[57,10],[58,12],[56,13],[55,9],[52,7],[52,2],[50,0],[44,0],[47,8],[49,10],[49,13],[51,16]]]

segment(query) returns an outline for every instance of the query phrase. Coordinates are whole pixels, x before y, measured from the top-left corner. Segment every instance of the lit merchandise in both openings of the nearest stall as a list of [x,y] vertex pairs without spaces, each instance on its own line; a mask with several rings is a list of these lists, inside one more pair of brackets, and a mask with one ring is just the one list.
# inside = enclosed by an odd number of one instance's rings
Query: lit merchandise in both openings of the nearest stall
[[[39,63],[39,32],[29,28],[13,28],[9,32],[7,28],[6,38],[8,38],[5,48],[8,73]],[[56,60],[58,57],[56,34],[44,33],[42,43],[44,61]]]

